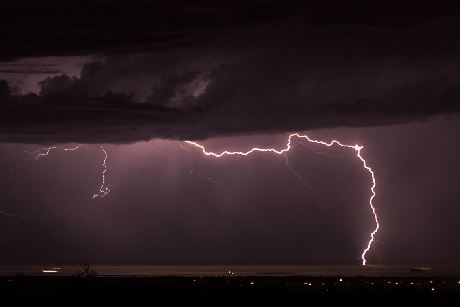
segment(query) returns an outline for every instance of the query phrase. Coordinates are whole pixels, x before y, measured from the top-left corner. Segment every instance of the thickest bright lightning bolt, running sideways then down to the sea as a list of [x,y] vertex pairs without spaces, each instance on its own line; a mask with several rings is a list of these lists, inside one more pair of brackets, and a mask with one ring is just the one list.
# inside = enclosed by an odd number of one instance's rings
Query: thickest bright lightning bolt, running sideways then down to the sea
[[[367,163],[366,163],[366,160],[364,160],[364,158],[361,156],[361,149],[363,148],[363,146],[358,146],[358,145],[344,145],[342,143],[340,143],[339,141],[336,141],[336,140],[333,140],[331,143],[326,143],[326,142],[323,142],[323,141],[316,141],[316,140],[312,140],[310,139],[307,135],[299,135],[299,133],[293,133],[291,135],[289,135],[289,139],[288,139],[288,147],[286,149],[283,149],[282,151],[277,151],[273,148],[270,148],[270,149],[262,149],[262,148],[253,148],[251,149],[250,151],[247,151],[247,152],[241,152],[241,151],[233,151],[233,152],[229,152],[229,151],[224,151],[222,152],[221,154],[216,154],[216,153],[213,153],[213,152],[207,152],[204,148],[204,146],[201,146],[195,142],[192,142],[192,141],[185,141],[187,143],[190,143],[192,145],[195,145],[197,147],[200,147],[202,150],[203,150],[203,153],[207,156],[217,156],[217,157],[220,157],[220,156],[223,156],[225,154],[227,155],[243,155],[243,156],[246,156],[254,151],[272,151],[272,152],[275,152],[277,154],[283,154],[284,152],[286,151],[289,151],[289,149],[291,148],[291,138],[293,136],[298,136],[299,138],[305,138],[307,139],[309,142],[311,143],[316,143],[316,144],[322,144],[322,145],[326,145],[326,146],[331,146],[333,145],[334,143],[337,143],[338,145],[342,146],[342,147],[350,147],[350,148],[354,148],[355,151],[357,151],[357,156],[358,158],[362,161],[362,164],[364,166],[364,168],[366,168],[369,173],[371,174],[372,176],[372,182],[373,182],[373,185],[371,187],[371,191],[372,191],[372,196],[370,197],[369,199],[369,204],[372,208],[372,213],[374,214],[374,217],[375,217],[375,224],[377,225],[375,230],[371,233],[371,238],[368,242],[368,247],[366,249],[364,249],[364,251],[362,252],[362,255],[361,255],[361,258],[362,258],[362,265],[366,265],[366,258],[365,258],[365,255],[366,253],[368,252],[368,250],[371,248],[371,244],[372,242],[374,241],[374,235],[377,233],[377,231],[379,230],[380,228],[380,225],[379,225],[379,220],[378,220],[378,217],[377,217],[377,214],[375,213],[375,208],[374,208],[374,204],[372,203],[372,200],[374,199],[375,197],[375,191],[374,191],[374,188],[375,188],[375,175],[374,175],[374,172],[372,171],[372,169],[370,167],[368,167]],[[105,152],[105,151],[104,151]],[[105,161],[105,160],[104,160]],[[105,166],[105,162],[104,162],[104,166]],[[104,185],[104,184],[103,184]],[[101,188],[101,191],[102,191],[102,188]],[[96,197],[96,196],[94,196]]]

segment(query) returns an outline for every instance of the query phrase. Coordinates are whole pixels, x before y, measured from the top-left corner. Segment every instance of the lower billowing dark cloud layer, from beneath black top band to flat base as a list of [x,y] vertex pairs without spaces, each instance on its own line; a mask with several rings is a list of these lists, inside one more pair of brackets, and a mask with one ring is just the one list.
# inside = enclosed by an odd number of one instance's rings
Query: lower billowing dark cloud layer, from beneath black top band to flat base
[[[372,51],[375,48],[367,53]],[[11,95],[6,81],[0,81],[0,141],[199,140],[390,125],[460,111],[460,64],[454,57],[428,62],[421,53],[420,64],[377,56],[370,60],[347,56],[333,62],[331,56],[305,54],[303,50],[269,51],[234,64],[221,60],[207,71],[179,65],[176,70],[181,72],[165,70],[153,85],[136,83],[148,89],[145,98],[136,102],[133,93],[123,92],[129,82],[123,78],[127,71],[134,76],[145,73],[118,60],[87,63],[80,77],[47,77],[39,82],[38,95]],[[142,63],[144,67],[148,60]],[[114,84],[119,85],[115,93],[109,90]]]

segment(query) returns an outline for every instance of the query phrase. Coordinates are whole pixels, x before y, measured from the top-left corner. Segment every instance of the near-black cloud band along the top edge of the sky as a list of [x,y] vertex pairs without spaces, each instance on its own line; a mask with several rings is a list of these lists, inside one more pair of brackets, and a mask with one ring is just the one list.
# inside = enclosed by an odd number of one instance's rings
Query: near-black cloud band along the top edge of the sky
[[151,52],[228,32],[294,26],[414,27],[456,19],[455,1],[9,1],[0,61]]

